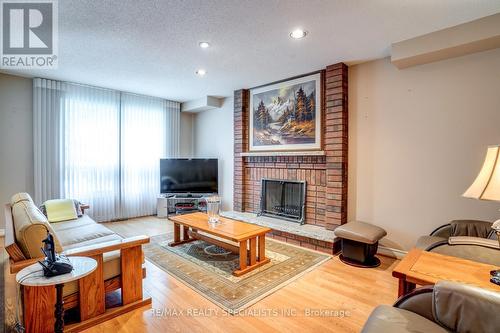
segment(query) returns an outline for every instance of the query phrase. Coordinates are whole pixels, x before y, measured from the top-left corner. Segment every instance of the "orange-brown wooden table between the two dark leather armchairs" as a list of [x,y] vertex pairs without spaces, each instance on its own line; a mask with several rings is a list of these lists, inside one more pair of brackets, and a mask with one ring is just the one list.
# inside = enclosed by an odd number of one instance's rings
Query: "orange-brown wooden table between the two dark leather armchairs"
[[417,284],[433,285],[440,280],[455,281],[500,292],[500,286],[490,282],[490,271],[494,269],[498,267],[412,249],[394,268],[392,276],[399,279],[398,297],[415,289]]

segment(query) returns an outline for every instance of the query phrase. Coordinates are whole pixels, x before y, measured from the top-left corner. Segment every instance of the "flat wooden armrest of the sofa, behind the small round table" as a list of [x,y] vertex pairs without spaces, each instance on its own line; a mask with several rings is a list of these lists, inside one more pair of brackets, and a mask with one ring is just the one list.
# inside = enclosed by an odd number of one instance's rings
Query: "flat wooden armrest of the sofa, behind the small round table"
[[[129,237],[129,238],[124,238],[124,239],[116,240],[116,241],[99,243],[99,244],[95,244],[95,245],[82,246],[82,247],[74,248],[71,250],[63,251],[62,254],[66,255],[68,257],[69,256],[93,257],[93,256],[103,254],[106,252],[128,249],[128,248],[131,248],[134,246],[147,244],[147,243],[149,243],[148,236],[136,236],[136,237]],[[44,259],[45,259],[44,257],[40,257],[40,258],[26,259],[26,260],[17,261],[17,262],[14,262],[11,259],[10,272],[12,274],[15,274],[15,273],[19,272],[21,269],[28,267],[29,265],[32,265],[39,260],[44,260]]]

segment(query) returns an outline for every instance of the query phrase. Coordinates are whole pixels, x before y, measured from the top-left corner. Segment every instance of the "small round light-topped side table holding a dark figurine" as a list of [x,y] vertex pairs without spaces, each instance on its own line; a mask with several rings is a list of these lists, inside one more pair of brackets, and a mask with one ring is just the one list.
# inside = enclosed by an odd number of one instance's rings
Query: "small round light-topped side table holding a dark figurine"
[[[39,263],[32,264],[23,268],[16,275],[16,281],[22,286],[27,287],[47,287],[55,286],[56,288],[56,304],[54,316],[56,322],[54,324],[54,332],[62,333],[64,331],[64,302],[63,302],[63,287],[65,283],[81,279],[97,268],[97,261],[87,257],[68,257],[73,265],[73,271],[68,274],[45,277],[43,276],[43,268]],[[39,323],[43,325],[44,323]]]

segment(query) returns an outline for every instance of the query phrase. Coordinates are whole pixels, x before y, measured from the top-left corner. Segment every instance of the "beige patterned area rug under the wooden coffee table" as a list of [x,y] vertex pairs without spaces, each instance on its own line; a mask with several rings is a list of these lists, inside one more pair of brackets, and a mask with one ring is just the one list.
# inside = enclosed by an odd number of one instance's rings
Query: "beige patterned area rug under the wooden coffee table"
[[151,237],[146,259],[230,314],[238,313],[329,260],[331,256],[266,239],[271,262],[243,276],[232,275],[238,255],[210,254],[213,246],[197,240],[168,246],[172,233]]

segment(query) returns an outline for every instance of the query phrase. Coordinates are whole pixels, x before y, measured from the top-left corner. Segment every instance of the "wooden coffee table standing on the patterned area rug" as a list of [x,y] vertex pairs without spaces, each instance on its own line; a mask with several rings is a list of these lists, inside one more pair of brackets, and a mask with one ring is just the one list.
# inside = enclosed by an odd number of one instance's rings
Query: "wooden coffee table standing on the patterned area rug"
[[233,272],[235,276],[241,276],[270,261],[266,258],[266,233],[271,231],[270,228],[225,217],[220,217],[219,223],[211,226],[207,214],[199,212],[170,216],[168,219],[174,222],[174,241],[170,246],[199,239],[239,254],[240,266]]

